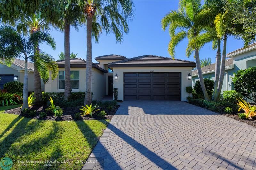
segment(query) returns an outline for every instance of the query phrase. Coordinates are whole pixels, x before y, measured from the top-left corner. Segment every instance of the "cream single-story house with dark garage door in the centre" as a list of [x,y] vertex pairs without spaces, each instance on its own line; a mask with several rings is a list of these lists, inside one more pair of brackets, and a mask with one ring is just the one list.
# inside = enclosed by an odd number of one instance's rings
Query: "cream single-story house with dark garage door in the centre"
[[[127,59],[120,55],[104,55],[92,63],[93,100],[113,96],[118,88],[118,100],[181,100],[189,96],[192,86],[188,74],[195,62],[167,57],[143,55]],[[64,92],[64,60],[57,61],[59,76],[45,84],[45,92]],[[85,91],[86,60],[70,59],[72,92]]]

